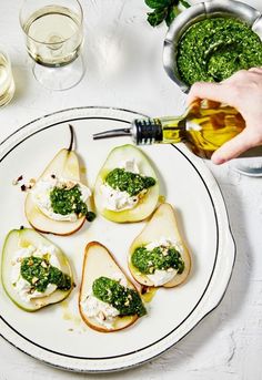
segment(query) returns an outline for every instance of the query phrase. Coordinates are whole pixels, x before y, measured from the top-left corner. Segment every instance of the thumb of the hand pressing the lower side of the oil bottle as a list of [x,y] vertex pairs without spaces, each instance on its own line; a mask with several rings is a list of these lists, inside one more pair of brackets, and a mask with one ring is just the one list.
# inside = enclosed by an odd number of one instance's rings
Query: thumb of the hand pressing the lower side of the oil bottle
[[214,164],[223,164],[229,160],[238,157],[241,153],[254,146],[249,130],[243,130],[238,136],[224,143],[212,154]]

